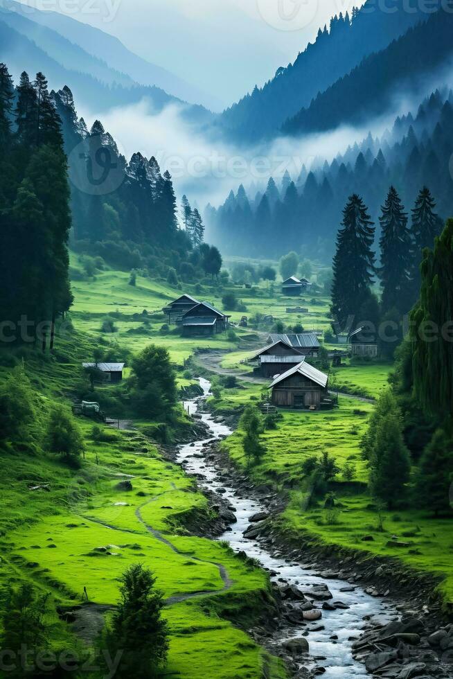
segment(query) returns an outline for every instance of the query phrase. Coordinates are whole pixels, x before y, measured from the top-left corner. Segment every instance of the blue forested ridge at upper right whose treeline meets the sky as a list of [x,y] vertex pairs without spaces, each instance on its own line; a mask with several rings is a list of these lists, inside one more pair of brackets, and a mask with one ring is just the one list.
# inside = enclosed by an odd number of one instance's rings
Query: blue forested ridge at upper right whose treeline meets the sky
[[349,73],[366,56],[387,47],[408,28],[429,15],[418,6],[407,11],[407,1],[395,0],[392,12],[377,8],[375,0],[342,14],[319,30],[314,44],[293,64],[278,69],[263,88],[255,87],[239,103],[224,111],[217,124],[237,139],[256,141],[276,134],[287,118],[295,116],[321,91]]

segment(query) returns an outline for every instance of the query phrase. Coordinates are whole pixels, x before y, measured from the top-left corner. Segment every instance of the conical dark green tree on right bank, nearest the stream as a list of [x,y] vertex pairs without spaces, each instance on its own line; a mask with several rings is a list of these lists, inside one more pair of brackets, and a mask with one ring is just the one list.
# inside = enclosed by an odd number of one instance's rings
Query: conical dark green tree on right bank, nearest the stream
[[402,424],[397,414],[384,414],[377,424],[370,466],[373,497],[393,509],[405,493],[411,470],[409,450],[402,438]]

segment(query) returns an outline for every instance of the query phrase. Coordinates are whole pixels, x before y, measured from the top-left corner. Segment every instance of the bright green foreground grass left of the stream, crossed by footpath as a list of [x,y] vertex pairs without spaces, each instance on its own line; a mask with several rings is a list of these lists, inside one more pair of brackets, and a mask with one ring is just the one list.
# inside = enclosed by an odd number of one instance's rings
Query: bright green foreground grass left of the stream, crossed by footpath
[[[12,469],[6,457],[0,460],[1,467],[10,470],[0,518],[0,584],[31,579],[51,591],[60,605],[81,601],[86,587],[91,601],[112,604],[124,570],[143,563],[154,572],[166,599],[208,592],[165,610],[170,671],[194,679],[234,676],[231,671],[260,676],[262,649],[224,616],[251,624],[269,598],[267,576],[226,545],[186,534],[186,520],[202,522],[206,517],[206,498],[179,467],[163,461],[147,439],[109,430],[109,441],[98,443],[90,438],[89,423],[83,423],[83,430],[85,464],[76,473],[49,457],[37,461],[24,456],[15,459]],[[38,475],[39,482],[50,483],[49,492],[28,490]],[[117,488],[125,478],[131,478],[132,491]],[[228,591],[219,563],[233,581]],[[69,630],[57,621],[54,627],[55,647],[68,644]],[[272,676],[283,676],[278,664],[271,665]]]

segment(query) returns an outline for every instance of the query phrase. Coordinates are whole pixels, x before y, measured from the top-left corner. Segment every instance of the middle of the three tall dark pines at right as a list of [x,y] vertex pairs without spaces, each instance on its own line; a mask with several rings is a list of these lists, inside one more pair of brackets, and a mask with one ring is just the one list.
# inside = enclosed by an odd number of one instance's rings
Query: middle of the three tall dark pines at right
[[382,215],[379,218],[382,287],[382,311],[396,308],[403,315],[409,311],[409,276],[411,270],[411,235],[407,228],[407,213],[393,186],[390,187]]

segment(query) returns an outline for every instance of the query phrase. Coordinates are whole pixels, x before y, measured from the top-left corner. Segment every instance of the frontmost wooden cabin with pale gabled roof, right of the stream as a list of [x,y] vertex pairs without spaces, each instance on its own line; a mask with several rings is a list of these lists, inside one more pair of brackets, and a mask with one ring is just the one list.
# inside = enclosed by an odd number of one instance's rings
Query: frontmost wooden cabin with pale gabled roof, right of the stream
[[305,359],[278,376],[272,389],[272,405],[300,410],[332,407],[328,394],[328,375],[305,362]]

